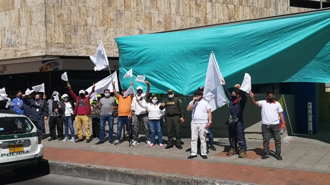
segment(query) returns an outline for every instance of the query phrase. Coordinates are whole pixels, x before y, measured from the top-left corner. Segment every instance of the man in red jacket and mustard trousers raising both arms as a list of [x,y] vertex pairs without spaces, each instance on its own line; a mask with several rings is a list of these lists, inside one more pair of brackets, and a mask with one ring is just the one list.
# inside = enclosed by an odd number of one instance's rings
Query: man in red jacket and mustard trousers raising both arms
[[[89,104],[90,97],[86,96],[84,90],[80,90],[79,96],[77,96],[72,91],[70,84],[68,84],[68,88],[71,96],[76,100],[76,106],[75,109],[73,110],[73,114],[75,115],[78,139],[75,142],[78,143],[83,141],[82,139],[82,124],[83,124],[86,133],[86,143],[90,143],[89,117],[88,117],[88,115],[92,113]],[[90,94],[94,93],[94,89],[95,89],[95,84],[93,83],[92,91],[90,92]]]

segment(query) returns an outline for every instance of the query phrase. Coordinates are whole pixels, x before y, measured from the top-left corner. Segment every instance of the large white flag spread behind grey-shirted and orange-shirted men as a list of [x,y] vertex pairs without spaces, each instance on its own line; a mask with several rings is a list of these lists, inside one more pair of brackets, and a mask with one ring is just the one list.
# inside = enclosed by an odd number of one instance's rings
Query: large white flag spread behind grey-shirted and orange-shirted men
[[[119,86],[118,86],[118,78],[117,78],[117,73],[116,71],[114,73],[112,73],[112,78],[114,79],[115,81],[115,88],[116,88],[116,91],[119,91]],[[97,82],[95,84],[95,89],[94,89],[94,92],[103,92],[105,89],[109,89],[110,92],[112,92],[112,80],[111,80],[111,76],[109,75],[107,78],[104,78],[103,80]],[[90,86],[88,89],[86,89],[86,91],[88,92],[88,94],[90,94],[90,92],[92,92],[92,87],[93,86]],[[90,96],[90,95],[89,95]]]

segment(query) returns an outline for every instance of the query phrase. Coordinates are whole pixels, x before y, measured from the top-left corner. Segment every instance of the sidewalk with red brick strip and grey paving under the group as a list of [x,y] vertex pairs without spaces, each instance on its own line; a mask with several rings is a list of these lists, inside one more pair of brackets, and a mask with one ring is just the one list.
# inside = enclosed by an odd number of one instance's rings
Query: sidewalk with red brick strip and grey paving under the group
[[[115,120],[116,126],[116,120]],[[46,127],[49,133],[48,127]],[[116,134],[116,128],[114,129]],[[190,155],[190,139],[182,139],[183,149],[148,147],[144,136],[137,146],[129,147],[128,139],[113,145],[106,139],[104,144],[70,143],[57,140],[42,143],[45,147],[44,159],[51,162],[97,165],[153,174],[193,176],[255,184],[274,185],[325,185],[330,177],[330,144],[299,137],[287,137],[282,142],[282,161],[272,157],[262,160],[261,140],[247,140],[246,158],[237,155],[226,156],[229,149],[228,138],[215,138],[216,151],[208,150],[208,159],[200,156],[187,159]],[[163,139],[167,139],[164,137]],[[271,143],[271,149],[274,149]]]

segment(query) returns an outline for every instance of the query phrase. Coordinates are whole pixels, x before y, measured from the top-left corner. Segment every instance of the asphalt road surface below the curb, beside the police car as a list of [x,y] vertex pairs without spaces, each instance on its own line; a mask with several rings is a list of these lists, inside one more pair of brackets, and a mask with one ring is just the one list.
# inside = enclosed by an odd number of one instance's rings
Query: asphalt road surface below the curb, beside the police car
[[0,179],[0,185],[126,185],[63,175],[43,174],[39,172],[33,175],[18,175],[13,171],[5,171],[0,172]]

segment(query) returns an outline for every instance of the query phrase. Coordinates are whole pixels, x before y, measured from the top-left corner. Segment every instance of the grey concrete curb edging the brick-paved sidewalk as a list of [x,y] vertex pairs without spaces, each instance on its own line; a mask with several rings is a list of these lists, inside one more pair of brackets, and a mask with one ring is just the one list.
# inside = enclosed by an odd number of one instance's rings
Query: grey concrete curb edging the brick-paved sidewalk
[[132,185],[258,185],[228,180],[196,178],[149,171],[136,171],[106,166],[83,165],[42,160],[39,170],[52,174],[102,180]]

